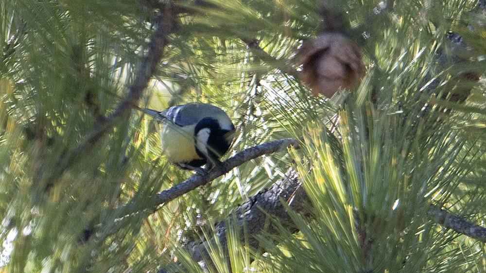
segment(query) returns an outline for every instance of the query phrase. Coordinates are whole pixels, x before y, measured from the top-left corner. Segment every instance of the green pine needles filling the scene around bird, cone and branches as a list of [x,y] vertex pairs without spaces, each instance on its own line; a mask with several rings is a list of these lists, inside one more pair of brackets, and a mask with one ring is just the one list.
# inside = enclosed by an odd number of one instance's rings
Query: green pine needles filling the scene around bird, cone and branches
[[[222,107],[241,131],[224,159],[286,137],[302,147],[158,206],[151,196],[192,173],[161,155],[156,122],[134,109],[83,146],[135,80],[150,2],[0,1],[0,272],[206,272],[183,248],[201,238],[211,273],[486,271],[484,243],[428,215],[435,205],[482,225],[486,214],[485,85],[457,77],[485,71],[476,1],[336,1],[366,71],[332,99],[288,72],[325,29],[317,0],[162,1],[187,12],[139,106]],[[451,49],[449,32],[469,48]],[[232,212],[289,168],[310,214],[287,208],[297,233],[269,216],[278,232],[253,249]]]

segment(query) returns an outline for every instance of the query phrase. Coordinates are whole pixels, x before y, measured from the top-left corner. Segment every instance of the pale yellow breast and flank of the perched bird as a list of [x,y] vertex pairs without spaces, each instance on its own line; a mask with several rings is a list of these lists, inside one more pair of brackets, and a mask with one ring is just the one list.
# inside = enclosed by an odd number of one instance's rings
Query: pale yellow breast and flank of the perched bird
[[162,152],[175,163],[202,159],[194,148],[194,129],[196,124],[180,127],[163,124],[160,131]]

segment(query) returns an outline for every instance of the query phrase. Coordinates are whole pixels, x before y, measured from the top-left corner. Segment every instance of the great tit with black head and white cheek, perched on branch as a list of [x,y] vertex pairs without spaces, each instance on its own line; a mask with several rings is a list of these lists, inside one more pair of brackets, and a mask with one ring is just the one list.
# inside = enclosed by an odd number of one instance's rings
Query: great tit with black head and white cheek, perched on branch
[[236,130],[221,108],[201,102],[169,107],[164,111],[144,109],[162,125],[162,152],[176,166],[193,171],[217,165],[233,143]]

